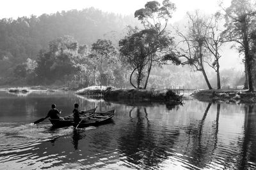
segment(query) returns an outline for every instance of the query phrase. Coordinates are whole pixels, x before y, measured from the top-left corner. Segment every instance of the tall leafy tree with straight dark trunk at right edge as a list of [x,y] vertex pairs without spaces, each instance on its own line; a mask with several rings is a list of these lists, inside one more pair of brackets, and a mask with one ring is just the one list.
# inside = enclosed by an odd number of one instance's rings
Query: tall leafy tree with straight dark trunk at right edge
[[244,87],[253,91],[252,63],[250,55],[250,32],[255,27],[256,6],[255,0],[232,0],[231,5],[225,10],[225,31],[223,41],[233,41],[240,45],[239,51],[244,53],[244,68],[246,82]]

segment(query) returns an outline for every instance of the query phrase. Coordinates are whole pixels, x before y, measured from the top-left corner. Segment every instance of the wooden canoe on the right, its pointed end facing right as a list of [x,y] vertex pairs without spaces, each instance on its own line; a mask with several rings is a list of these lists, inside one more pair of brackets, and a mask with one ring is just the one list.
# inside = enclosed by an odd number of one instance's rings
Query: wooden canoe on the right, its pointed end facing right
[[78,125],[74,124],[74,127],[88,127],[90,125],[100,125],[105,124],[111,120],[115,115],[115,110],[110,110],[106,112],[94,112],[93,116],[84,118],[83,121]]

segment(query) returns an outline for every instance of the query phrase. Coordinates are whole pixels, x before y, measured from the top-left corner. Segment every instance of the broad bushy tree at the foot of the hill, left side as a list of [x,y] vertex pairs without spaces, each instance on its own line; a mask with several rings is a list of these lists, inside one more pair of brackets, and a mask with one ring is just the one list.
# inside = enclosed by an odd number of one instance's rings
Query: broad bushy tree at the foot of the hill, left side
[[81,60],[77,53],[78,43],[70,36],[57,38],[49,42],[49,52],[40,51],[35,68],[41,83],[54,83],[65,76],[75,75],[81,69]]

